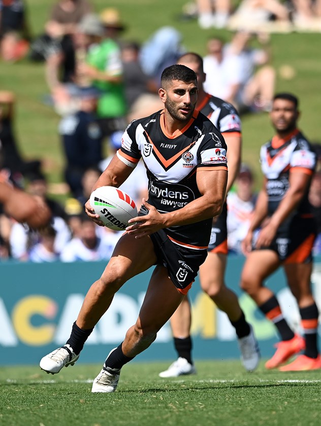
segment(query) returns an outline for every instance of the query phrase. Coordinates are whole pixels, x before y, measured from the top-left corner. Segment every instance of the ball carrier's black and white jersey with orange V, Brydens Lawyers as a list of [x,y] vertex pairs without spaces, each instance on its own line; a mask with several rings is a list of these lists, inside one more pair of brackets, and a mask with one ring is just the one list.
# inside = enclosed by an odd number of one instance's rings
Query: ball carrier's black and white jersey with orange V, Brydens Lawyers
[[[134,120],[123,134],[117,155],[134,163],[142,157],[149,180],[148,202],[166,213],[201,196],[196,182],[198,167],[227,170],[226,151],[220,132],[199,111],[182,130],[170,135],[163,110]],[[166,232],[175,243],[200,250],[208,246],[211,224],[212,219],[208,219]]]

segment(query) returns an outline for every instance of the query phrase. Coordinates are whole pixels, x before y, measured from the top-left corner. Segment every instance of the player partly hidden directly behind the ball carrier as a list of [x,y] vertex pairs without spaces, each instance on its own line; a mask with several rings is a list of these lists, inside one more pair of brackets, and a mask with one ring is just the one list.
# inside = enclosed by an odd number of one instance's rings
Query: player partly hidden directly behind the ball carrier
[[[229,162],[228,193],[236,179],[241,161],[240,118],[231,103],[204,91],[203,83],[206,75],[203,71],[203,59],[200,55],[186,53],[178,59],[177,63],[188,66],[196,73],[199,88],[196,109],[206,115],[222,133],[229,148],[227,153]],[[218,308],[227,313],[238,337],[242,363],[246,370],[253,371],[259,365],[260,353],[251,326],[246,322],[236,294],[225,285],[224,272],[227,254],[227,204],[225,202],[221,215],[213,220],[208,256],[200,268],[200,281],[202,289]],[[178,359],[168,370],[159,373],[159,376],[176,377],[182,374],[195,373],[196,370],[191,357],[190,326],[190,304],[186,296],[171,317]]]

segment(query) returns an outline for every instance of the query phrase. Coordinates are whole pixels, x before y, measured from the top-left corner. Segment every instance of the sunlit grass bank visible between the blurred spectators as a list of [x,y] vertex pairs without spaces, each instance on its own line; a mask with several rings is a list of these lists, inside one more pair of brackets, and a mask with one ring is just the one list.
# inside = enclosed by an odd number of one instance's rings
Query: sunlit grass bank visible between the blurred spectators
[[[56,0],[28,0],[30,27],[33,34],[43,31],[49,17],[51,5]],[[127,30],[122,38],[139,42],[146,40],[156,28],[163,25],[175,26],[181,31],[183,45],[187,50],[206,52],[210,35],[219,35],[230,40],[227,30],[199,28],[196,20],[179,19],[182,6],[187,0],[93,0],[95,11],[106,7],[117,7]],[[237,0],[233,2],[237,4]],[[319,137],[319,96],[321,78],[319,60],[319,38],[317,33],[272,34],[272,64],[277,71],[276,90],[292,91],[301,101],[302,118],[300,127],[312,141]],[[294,70],[291,79],[284,79],[280,69],[290,65]],[[50,182],[62,179],[63,156],[57,133],[59,117],[43,103],[48,93],[43,64],[23,60],[19,63],[0,62],[0,89],[12,90],[17,96],[16,131],[22,153],[27,158],[40,157],[44,160],[44,171]],[[243,117],[243,160],[252,165],[257,186],[262,181],[258,162],[260,146],[273,134],[268,115],[256,114]]]

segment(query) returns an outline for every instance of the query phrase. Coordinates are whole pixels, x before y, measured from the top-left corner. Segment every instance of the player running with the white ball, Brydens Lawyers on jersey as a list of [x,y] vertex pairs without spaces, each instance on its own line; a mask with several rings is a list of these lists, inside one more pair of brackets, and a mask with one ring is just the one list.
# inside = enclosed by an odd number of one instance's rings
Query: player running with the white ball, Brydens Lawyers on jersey
[[[197,76],[183,65],[165,68],[159,97],[164,110],[133,121],[93,189],[119,187],[143,158],[148,202],[119,239],[100,279],[88,290],[65,346],[40,361],[48,373],[73,365],[114,294],[131,277],[155,266],[137,322],[108,355],[92,392],[114,392],[120,370],[156,338],[187,294],[207,256],[212,218],[220,214],[228,180],[226,144],[195,110]],[[89,201],[86,212],[98,224]]]

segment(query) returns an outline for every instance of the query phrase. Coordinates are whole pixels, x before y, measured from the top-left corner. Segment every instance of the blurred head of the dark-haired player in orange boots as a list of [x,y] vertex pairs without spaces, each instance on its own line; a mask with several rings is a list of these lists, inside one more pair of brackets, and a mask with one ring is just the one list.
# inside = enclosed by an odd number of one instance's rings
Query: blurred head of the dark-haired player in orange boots
[[299,100],[292,93],[277,93],[273,97],[270,113],[273,127],[278,133],[286,134],[297,127]]

